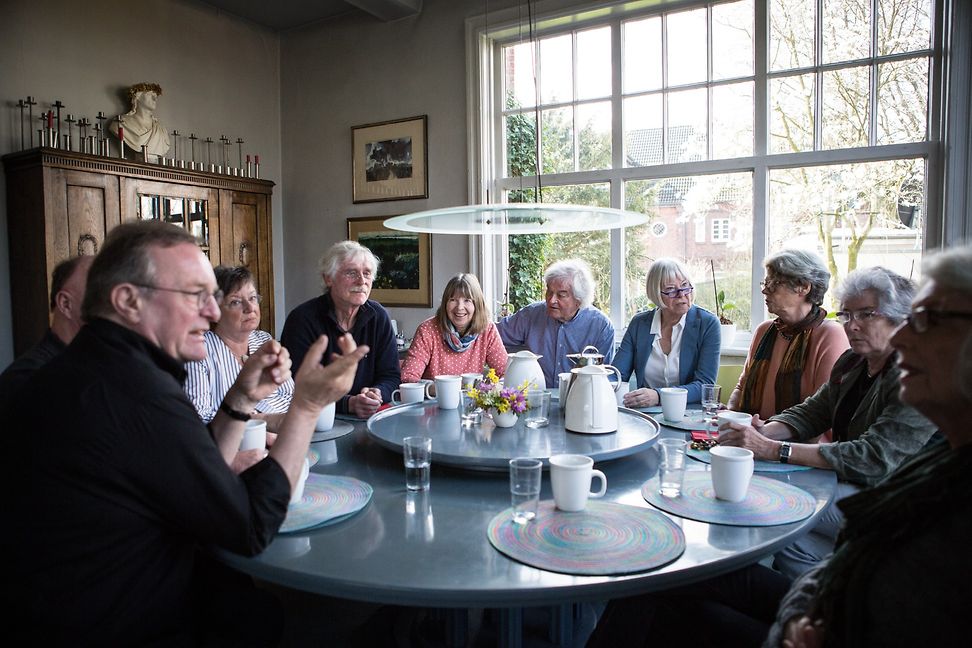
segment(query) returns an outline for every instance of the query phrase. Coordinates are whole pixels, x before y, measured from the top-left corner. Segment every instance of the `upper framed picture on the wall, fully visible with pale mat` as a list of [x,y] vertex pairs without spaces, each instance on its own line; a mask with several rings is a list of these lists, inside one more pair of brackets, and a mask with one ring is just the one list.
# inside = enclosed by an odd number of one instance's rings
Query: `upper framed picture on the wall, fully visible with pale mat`
[[351,127],[352,202],[429,197],[428,115]]

